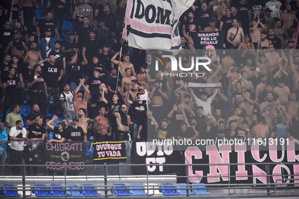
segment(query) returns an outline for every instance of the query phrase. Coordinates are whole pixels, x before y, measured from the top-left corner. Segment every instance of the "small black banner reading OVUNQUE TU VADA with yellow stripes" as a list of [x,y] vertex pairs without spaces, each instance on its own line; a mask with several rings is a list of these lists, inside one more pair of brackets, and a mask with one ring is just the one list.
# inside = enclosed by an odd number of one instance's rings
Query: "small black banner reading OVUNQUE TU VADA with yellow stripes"
[[95,164],[126,162],[124,141],[93,143]]

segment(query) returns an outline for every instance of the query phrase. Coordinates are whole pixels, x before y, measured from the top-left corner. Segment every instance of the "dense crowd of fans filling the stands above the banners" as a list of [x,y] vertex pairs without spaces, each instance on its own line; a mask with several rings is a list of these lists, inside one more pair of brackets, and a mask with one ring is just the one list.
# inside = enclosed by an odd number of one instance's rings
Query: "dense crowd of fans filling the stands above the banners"
[[[122,40],[125,6],[125,0],[0,3],[0,145],[17,141],[14,163],[21,162],[23,141],[44,141],[46,129],[54,131],[48,142],[298,138],[299,1],[195,1],[179,20],[183,67],[195,48],[189,32],[226,35],[212,71],[193,71],[203,77],[162,76],[172,73],[169,60],[155,71],[149,51]],[[34,16],[39,8],[44,19]],[[64,31],[64,21],[74,30]],[[193,90],[189,82],[222,88]],[[26,95],[27,129],[18,115]],[[47,118],[52,101],[55,113]],[[56,127],[58,116],[64,120]]]

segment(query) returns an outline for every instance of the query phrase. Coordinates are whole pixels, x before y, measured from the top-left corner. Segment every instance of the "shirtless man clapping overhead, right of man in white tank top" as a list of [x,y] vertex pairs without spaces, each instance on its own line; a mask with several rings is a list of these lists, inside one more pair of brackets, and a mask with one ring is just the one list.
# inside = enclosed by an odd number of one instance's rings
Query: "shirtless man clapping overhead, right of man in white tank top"
[[[74,97],[73,97],[73,105],[75,109],[75,117],[78,117],[79,109],[87,110],[87,102],[90,98],[90,90],[84,85],[85,79],[79,79],[80,83],[76,87],[74,91]],[[83,88],[86,91],[86,94],[84,94],[84,91],[79,91],[80,87],[83,86]],[[85,95],[85,96],[84,96]]]

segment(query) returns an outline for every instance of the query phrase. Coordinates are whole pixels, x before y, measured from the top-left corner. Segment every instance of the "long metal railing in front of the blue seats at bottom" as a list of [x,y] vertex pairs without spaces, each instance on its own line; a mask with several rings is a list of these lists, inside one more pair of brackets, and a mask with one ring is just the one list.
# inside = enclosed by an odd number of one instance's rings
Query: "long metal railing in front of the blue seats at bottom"
[[[293,165],[293,163],[281,163],[284,165]],[[188,166],[237,166],[237,165],[259,165],[259,166],[266,166],[266,175],[243,175],[243,176],[236,176],[236,175],[231,175],[230,174],[230,170],[228,169],[228,175],[227,176],[207,176],[207,175],[202,175],[202,176],[196,176],[196,177],[201,177],[201,178],[208,178],[208,177],[228,177],[228,181],[225,183],[205,183],[205,188],[201,188],[201,187],[196,187],[196,186],[200,186],[200,185],[195,185],[195,184],[190,184],[189,183],[189,178],[192,178],[194,176],[189,176],[188,175]],[[70,166],[70,165],[1,165],[4,167],[11,167],[11,166],[16,166],[16,167],[21,167],[22,168],[22,176],[10,176],[10,181],[22,181],[22,186],[15,186],[18,188],[18,190],[23,191],[23,197],[27,197],[27,196],[32,196],[32,194],[30,195],[26,195],[25,191],[29,191],[30,193],[32,193],[33,187],[36,188],[36,186],[26,186],[26,184],[32,184],[32,180],[40,180],[41,178],[45,181],[53,181],[55,182],[55,184],[57,184],[57,180],[64,180],[64,185],[59,186],[61,187],[61,189],[54,189],[53,191],[59,191],[59,190],[63,190],[65,192],[65,196],[71,196],[71,195],[66,195],[66,187],[82,187],[82,185],[76,185],[76,186],[71,186],[71,185],[67,185],[68,181],[76,179],[77,182],[76,184],[80,183],[86,183],[86,181],[91,181],[92,179],[96,178],[97,181],[92,182],[93,186],[87,186],[84,185],[84,187],[94,187],[93,189],[84,189],[84,190],[95,190],[95,191],[104,191],[104,194],[101,194],[101,197],[108,197],[113,195],[113,191],[114,191],[114,187],[123,187],[123,185],[113,185],[113,180],[117,180],[117,183],[123,183],[126,184],[125,181],[132,181],[135,179],[139,179],[140,181],[143,180],[143,182],[141,183],[142,185],[130,185],[132,187],[136,186],[136,187],[143,187],[143,190],[146,191],[147,193],[147,197],[150,197],[152,195],[157,195],[157,192],[155,193],[155,191],[157,190],[161,190],[161,189],[174,189],[174,190],[178,190],[178,189],[185,189],[186,190],[186,194],[184,196],[191,196],[191,195],[195,195],[196,194],[196,189],[207,189],[210,192],[211,196],[219,196],[219,194],[221,194],[222,196],[232,196],[234,194],[238,194],[238,190],[245,190],[245,189],[249,189],[252,190],[251,193],[247,192],[246,194],[248,196],[250,195],[254,195],[254,196],[265,196],[265,195],[299,195],[298,193],[295,192],[291,192],[291,191],[283,191],[278,192],[278,189],[296,189],[299,187],[299,179],[296,178],[297,175],[293,175],[293,174],[285,174],[283,175],[282,178],[281,175],[272,175],[270,174],[270,165],[277,165],[277,163],[245,163],[245,164],[240,164],[240,163],[230,163],[230,164],[119,164],[119,165],[84,165],[84,167],[94,167],[94,168],[101,168],[104,169],[104,175],[103,176],[68,176],[67,175],[67,170],[66,167],[76,167],[76,165],[74,166]],[[52,166],[52,167],[64,167],[64,176],[49,176],[49,178],[47,178],[46,176],[26,176],[26,167],[48,167],[48,166]],[[138,166],[138,167],[149,167],[149,166],[173,166],[173,167],[185,167],[185,171],[186,171],[186,175],[162,175],[161,179],[159,179],[160,175],[150,175],[148,170],[146,172],[146,175],[118,175],[118,176],[109,176],[107,175],[107,171],[109,169],[109,167],[111,166],[119,166],[119,167],[132,167],[132,166]],[[267,177],[267,183],[243,183],[243,184],[238,184],[238,183],[231,183],[231,178],[235,178],[235,177]],[[278,176],[279,178],[275,180],[275,182],[271,182],[270,181],[270,177],[275,177]],[[41,178],[40,178],[41,177]],[[290,179],[288,179],[290,177]],[[291,178],[292,177],[292,178]],[[158,178],[159,182],[166,182],[167,180],[174,183],[174,185],[163,185],[164,187],[167,186],[174,186],[174,188],[161,188],[159,184],[149,184],[150,181],[152,181],[152,179],[154,178]],[[186,180],[186,185],[185,184],[181,184],[176,186],[176,179],[175,178],[185,178]],[[4,180],[7,180],[7,177],[1,176],[0,177],[0,182],[3,182],[1,184],[8,184],[7,182],[4,183]],[[290,180],[290,182],[286,182]],[[295,180],[297,180],[298,182],[295,182]],[[109,181],[109,183],[108,183]],[[120,182],[119,182],[120,181]],[[284,182],[283,182],[284,181]],[[82,183],[81,183],[82,182]],[[91,182],[88,182],[89,184],[91,184]],[[38,183],[40,184],[40,183]],[[44,183],[44,184],[51,184],[49,182]],[[281,186],[284,185],[284,186]],[[4,186],[0,186],[0,188],[3,188]],[[42,188],[44,189],[39,189],[39,190],[47,190],[49,191],[49,185],[47,186],[42,186]],[[99,188],[102,187],[102,188]],[[12,187],[9,187],[12,188]],[[262,190],[264,189],[264,191],[260,192],[260,193],[256,193],[254,192],[254,190]],[[13,190],[13,189],[6,189],[6,190]],[[15,190],[15,189],[14,189]],[[71,189],[68,189],[71,190]],[[76,189],[78,190],[78,189]],[[117,188],[117,190],[140,190],[140,188],[129,188],[129,185],[126,185],[126,188]],[[193,193],[191,194],[190,191],[193,190]],[[227,190],[227,193],[221,193],[221,191],[223,190]],[[111,191],[111,193],[108,193],[108,191]],[[149,194],[149,191],[153,192],[152,194]],[[239,193],[241,193],[239,191]],[[160,193],[160,195],[162,195],[162,193]],[[201,195],[201,196],[205,196],[205,195]]]

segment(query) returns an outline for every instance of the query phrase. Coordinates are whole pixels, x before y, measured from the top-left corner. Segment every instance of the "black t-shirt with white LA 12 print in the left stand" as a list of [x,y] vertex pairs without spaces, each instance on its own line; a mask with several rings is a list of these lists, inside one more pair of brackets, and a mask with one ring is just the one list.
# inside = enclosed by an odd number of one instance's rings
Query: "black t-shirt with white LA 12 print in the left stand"
[[44,63],[44,75],[46,77],[46,83],[48,87],[57,88],[58,87],[58,77],[60,75],[60,71],[62,70],[62,66],[55,63],[54,65],[49,62]]

